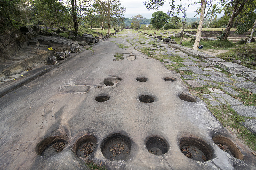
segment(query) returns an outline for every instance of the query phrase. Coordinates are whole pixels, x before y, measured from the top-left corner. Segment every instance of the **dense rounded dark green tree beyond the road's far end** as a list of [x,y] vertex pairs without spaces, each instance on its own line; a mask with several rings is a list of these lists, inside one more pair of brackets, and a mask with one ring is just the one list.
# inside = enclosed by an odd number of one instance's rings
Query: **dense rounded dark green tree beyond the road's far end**
[[166,24],[169,19],[169,15],[165,14],[163,11],[157,11],[152,14],[150,24],[157,28],[158,31],[159,28],[162,28],[162,26],[164,26],[164,24]]

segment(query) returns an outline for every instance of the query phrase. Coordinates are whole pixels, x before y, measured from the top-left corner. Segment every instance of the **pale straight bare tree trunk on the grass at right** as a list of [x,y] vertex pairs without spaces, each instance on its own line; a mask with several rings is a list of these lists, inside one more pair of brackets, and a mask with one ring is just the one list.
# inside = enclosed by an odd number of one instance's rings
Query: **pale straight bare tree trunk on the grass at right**
[[193,47],[193,50],[198,49],[199,43],[200,43],[200,38],[201,38],[201,33],[202,33],[202,27],[203,27],[203,22],[204,22],[204,13],[205,13],[205,8],[206,8],[207,0],[201,0],[201,14],[200,14],[200,20],[196,32],[196,40],[195,44]]

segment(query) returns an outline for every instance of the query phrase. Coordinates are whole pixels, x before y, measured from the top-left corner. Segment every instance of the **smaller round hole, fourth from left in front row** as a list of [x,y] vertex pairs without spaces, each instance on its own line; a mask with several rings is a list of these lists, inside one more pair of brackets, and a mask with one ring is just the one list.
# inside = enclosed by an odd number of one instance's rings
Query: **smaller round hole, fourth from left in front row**
[[148,137],[145,144],[148,152],[154,155],[162,155],[168,151],[167,142],[158,136]]

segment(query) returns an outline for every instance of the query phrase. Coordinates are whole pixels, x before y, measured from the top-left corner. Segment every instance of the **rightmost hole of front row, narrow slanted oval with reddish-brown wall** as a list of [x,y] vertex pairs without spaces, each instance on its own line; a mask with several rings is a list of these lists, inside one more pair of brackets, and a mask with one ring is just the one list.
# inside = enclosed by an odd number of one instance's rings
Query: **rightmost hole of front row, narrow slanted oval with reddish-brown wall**
[[243,154],[230,139],[222,136],[215,136],[212,140],[220,149],[229,153],[233,157],[240,160],[244,158]]

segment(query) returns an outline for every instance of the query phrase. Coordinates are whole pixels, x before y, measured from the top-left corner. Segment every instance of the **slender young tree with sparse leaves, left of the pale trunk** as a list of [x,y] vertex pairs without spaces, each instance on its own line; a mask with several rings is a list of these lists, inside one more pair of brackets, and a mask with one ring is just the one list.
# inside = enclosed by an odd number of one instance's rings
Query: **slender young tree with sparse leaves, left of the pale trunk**
[[[182,32],[181,32],[180,45],[182,44],[183,32],[184,32],[185,25],[187,24],[187,15],[186,15],[187,9],[188,8],[186,7],[186,4],[180,3],[180,4],[176,5],[176,7],[173,11],[169,12],[169,14],[172,17],[177,18],[178,21],[183,24],[183,29],[182,29]],[[181,19],[179,16],[183,17],[184,19]]]

